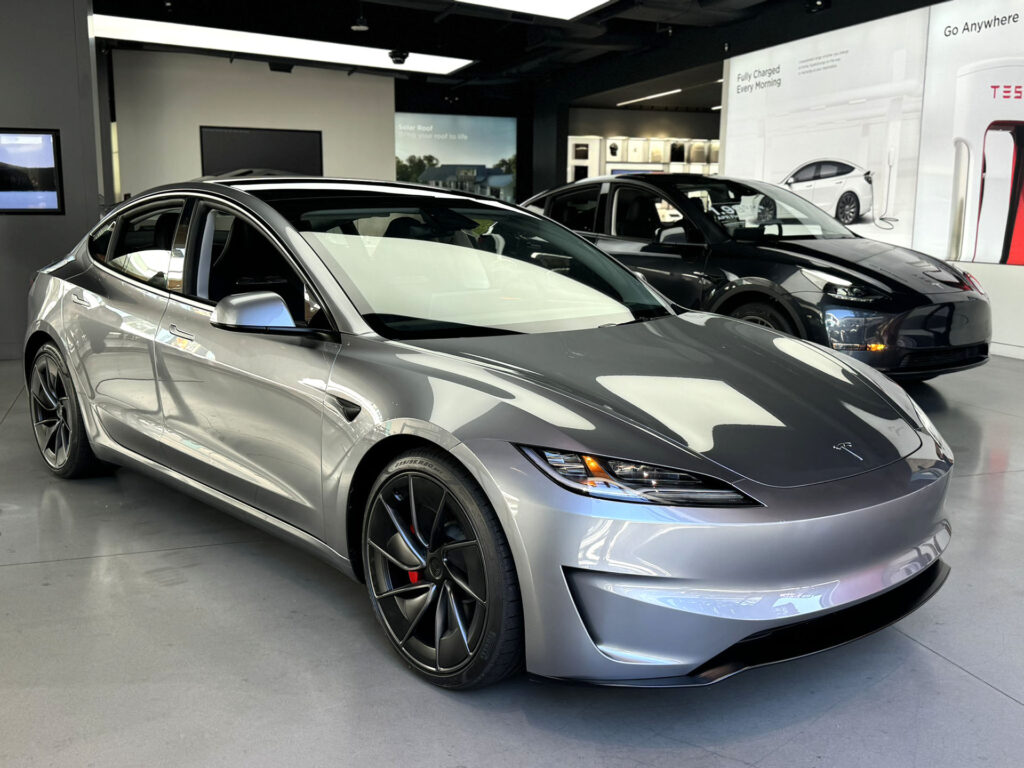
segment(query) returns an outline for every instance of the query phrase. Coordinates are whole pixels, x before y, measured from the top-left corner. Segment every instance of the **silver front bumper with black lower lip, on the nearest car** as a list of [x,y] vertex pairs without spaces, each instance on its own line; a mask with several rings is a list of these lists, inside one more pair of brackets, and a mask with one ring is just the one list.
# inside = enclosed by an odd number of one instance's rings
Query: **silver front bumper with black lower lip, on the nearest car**
[[456,453],[470,452],[515,557],[534,675],[702,685],[877,631],[944,579],[949,465],[927,446],[820,485],[734,480],[765,506],[733,509],[590,499],[508,443]]

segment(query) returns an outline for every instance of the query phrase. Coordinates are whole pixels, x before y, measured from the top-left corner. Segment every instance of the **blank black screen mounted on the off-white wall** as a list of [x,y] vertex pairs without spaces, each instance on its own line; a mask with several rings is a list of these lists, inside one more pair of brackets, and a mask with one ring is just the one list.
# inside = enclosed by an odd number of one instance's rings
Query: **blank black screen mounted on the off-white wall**
[[324,175],[319,131],[200,126],[203,175],[255,169],[303,176]]

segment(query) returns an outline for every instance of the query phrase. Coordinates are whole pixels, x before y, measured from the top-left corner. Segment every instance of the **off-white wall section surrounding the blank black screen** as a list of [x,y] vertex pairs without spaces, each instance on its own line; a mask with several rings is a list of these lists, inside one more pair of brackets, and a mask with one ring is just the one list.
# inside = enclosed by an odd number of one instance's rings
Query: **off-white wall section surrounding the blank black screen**
[[324,173],[394,178],[394,81],[191,53],[114,51],[121,190],[202,175],[199,127],[318,130]]

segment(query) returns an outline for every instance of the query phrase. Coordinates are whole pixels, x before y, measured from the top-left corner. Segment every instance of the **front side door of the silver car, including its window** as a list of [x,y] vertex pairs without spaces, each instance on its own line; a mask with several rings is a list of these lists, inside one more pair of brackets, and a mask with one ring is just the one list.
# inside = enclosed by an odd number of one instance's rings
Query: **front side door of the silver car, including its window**
[[339,344],[211,325],[218,300],[257,291],[278,293],[300,329],[330,328],[269,229],[226,203],[198,203],[181,290],[156,336],[165,461],[319,537],[324,399]]

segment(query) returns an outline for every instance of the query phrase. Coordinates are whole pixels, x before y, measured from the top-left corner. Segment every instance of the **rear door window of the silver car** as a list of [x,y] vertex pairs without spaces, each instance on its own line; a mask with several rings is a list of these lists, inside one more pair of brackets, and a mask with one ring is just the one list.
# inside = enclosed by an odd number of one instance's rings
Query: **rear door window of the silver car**
[[117,243],[106,265],[155,288],[180,290],[180,281],[172,287],[168,275],[172,260],[179,265],[176,271],[180,273],[180,263],[184,259],[181,251],[173,251],[182,207],[182,201],[173,200],[122,216]]

